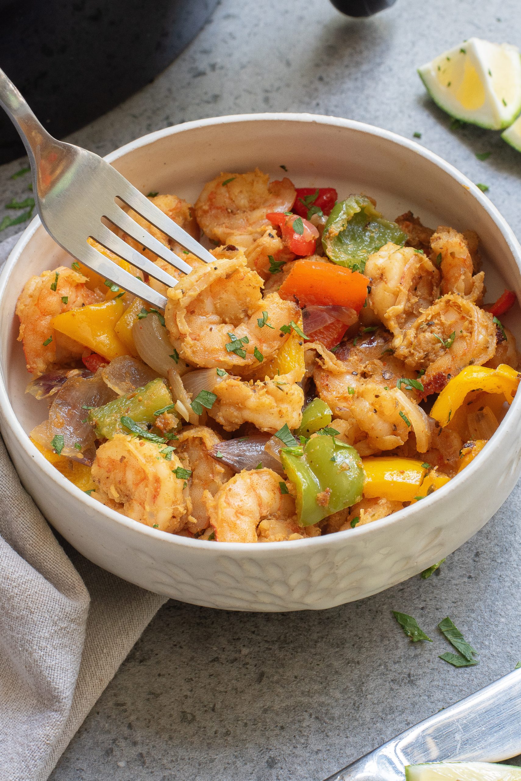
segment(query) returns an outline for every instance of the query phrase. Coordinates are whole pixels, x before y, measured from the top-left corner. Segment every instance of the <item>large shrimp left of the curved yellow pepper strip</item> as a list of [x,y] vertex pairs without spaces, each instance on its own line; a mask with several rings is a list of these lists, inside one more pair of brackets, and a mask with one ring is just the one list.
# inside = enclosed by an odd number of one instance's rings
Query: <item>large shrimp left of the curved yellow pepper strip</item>
[[419,394],[411,385],[399,382],[416,381],[416,374],[388,355],[389,340],[378,332],[356,346],[348,342],[336,353],[338,358],[317,361],[314,371],[320,398],[334,415],[352,424],[344,433],[360,455],[397,448],[411,431],[420,452],[430,444],[427,415],[416,404]]

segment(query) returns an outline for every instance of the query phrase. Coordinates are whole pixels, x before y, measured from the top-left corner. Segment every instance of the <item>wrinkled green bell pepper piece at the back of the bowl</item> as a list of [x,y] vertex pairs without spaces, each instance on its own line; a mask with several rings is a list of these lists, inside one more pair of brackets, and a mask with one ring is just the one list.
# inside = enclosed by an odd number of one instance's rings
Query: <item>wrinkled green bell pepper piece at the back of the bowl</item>
[[331,210],[322,234],[328,258],[338,266],[363,273],[369,255],[393,241],[404,244],[406,234],[384,219],[365,195],[349,195]]

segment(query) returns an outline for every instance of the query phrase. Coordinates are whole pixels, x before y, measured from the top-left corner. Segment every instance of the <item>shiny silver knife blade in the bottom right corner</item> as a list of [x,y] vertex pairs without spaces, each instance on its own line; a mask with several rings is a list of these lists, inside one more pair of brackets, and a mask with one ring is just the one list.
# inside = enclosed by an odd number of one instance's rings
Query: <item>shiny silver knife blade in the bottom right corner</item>
[[444,708],[325,781],[403,781],[406,765],[521,754],[521,669]]

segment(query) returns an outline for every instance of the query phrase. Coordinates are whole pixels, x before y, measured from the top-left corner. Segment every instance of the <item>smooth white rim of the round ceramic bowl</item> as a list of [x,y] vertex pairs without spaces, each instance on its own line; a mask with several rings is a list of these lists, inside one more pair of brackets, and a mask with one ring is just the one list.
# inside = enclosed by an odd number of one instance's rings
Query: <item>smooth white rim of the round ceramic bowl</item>
[[[519,273],[521,273],[521,246],[519,245],[512,228],[510,228],[502,214],[489,200],[489,198],[487,198],[484,193],[480,191],[476,184],[474,184],[463,173],[461,173],[459,169],[455,168],[455,166],[452,166],[450,163],[434,154],[434,152],[431,152],[429,149],[424,148],[420,144],[416,143],[416,141],[412,141],[409,138],[393,133],[391,130],[385,130],[384,128],[370,125],[368,123],[358,122],[355,119],[344,119],[342,117],[310,114],[306,112],[263,112],[258,114],[231,114],[227,116],[209,117],[206,119],[194,119],[190,122],[180,123],[172,127],[165,127],[162,130],[154,130],[152,133],[140,136],[133,141],[129,141],[128,144],[124,144],[122,147],[115,149],[108,155],[105,155],[104,159],[107,162],[112,163],[124,155],[129,154],[129,152],[133,152],[136,149],[147,146],[148,144],[153,144],[155,141],[159,141],[162,138],[178,133],[184,133],[190,130],[197,130],[200,127],[263,121],[317,123],[321,125],[331,125],[333,127],[344,127],[348,130],[356,130],[363,134],[383,138],[386,141],[391,141],[394,144],[398,144],[403,148],[409,149],[409,151],[414,152],[416,155],[420,155],[420,157],[423,157],[427,161],[433,163],[435,166],[438,166],[438,168],[443,170],[450,177],[452,177],[452,179],[461,184],[467,191],[470,191],[470,194],[472,194],[473,197],[477,199],[480,207],[484,209],[485,212],[487,212],[487,214],[494,221],[495,225],[501,231],[510,251],[512,252],[513,258],[516,261]],[[27,228],[23,231],[23,234],[21,234],[19,237],[19,240],[12,248],[12,251],[9,253],[9,257],[5,261],[5,265],[2,269],[2,272],[0,273],[0,301],[5,294],[7,281],[17,262],[19,261],[20,255],[27,247],[29,241],[34,237],[37,228],[40,226],[41,220],[39,216],[34,217]],[[402,510],[394,512],[391,515],[387,515],[385,518],[364,524],[363,526],[355,527],[354,529],[336,532],[334,535],[326,534],[320,537],[307,537],[303,540],[271,542],[267,545],[259,545],[258,543],[219,542],[218,540],[214,541],[193,539],[191,537],[183,537],[178,534],[172,534],[154,529],[151,526],[147,526],[144,523],[130,519],[126,515],[122,515],[121,513],[116,512],[115,510],[112,510],[105,505],[102,505],[101,502],[93,499],[89,494],[85,494],[82,490],[80,490],[80,488],[76,487],[73,483],[67,480],[66,477],[58,472],[58,469],[55,469],[55,467],[52,466],[46,458],[44,458],[41,452],[38,451],[35,445],[31,442],[29,435],[25,432],[25,430],[23,430],[23,427],[16,418],[15,412],[9,401],[9,394],[7,392],[4,376],[2,371],[0,371],[0,417],[3,420],[3,423],[8,425],[15,434],[16,440],[19,442],[20,447],[23,448],[23,450],[30,458],[33,458],[37,462],[41,469],[44,470],[44,473],[46,473],[51,478],[51,480],[57,484],[58,487],[60,487],[62,490],[66,490],[76,499],[80,499],[80,501],[86,502],[88,508],[91,510],[94,509],[97,512],[101,512],[101,515],[105,515],[107,519],[122,524],[122,526],[126,526],[130,530],[150,536],[154,535],[154,540],[165,540],[166,543],[171,545],[182,545],[184,547],[194,548],[195,550],[214,551],[214,553],[219,554],[225,554],[227,551],[229,553],[233,552],[235,554],[239,553],[239,551],[243,551],[248,555],[252,555],[253,552],[255,552],[256,555],[261,556],[271,555],[270,551],[272,553],[275,553],[275,551],[285,551],[286,553],[289,551],[294,551],[295,554],[297,554],[299,551],[303,551],[303,546],[320,548],[324,545],[334,544],[335,542],[340,543],[343,540],[346,540],[348,535],[350,538],[353,538],[353,535],[360,537],[360,535],[371,533],[371,530],[375,531],[377,529],[381,529],[384,526],[390,526],[391,524],[399,523],[403,519],[405,513],[407,514],[406,517],[409,518],[413,515],[423,515],[425,511],[429,512],[431,510],[434,502],[438,501],[440,497],[445,497],[450,490],[454,490],[455,487],[458,487],[466,480],[470,480],[470,476],[477,469],[480,469],[481,465],[485,460],[487,460],[487,458],[492,457],[493,454],[499,456],[498,451],[500,451],[500,448],[502,448],[502,440],[506,433],[506,426],[504,424],[505,422],[510,423],[511,421],[514,423],[512,420],[514,416],[516,416],[516,419],[518,420],[521,417],[521,394],[517,394],[516,398],[514,398],[512,401],[512,405],[510,405],[510,408],[506,413],[505,418],[502,420],[498,431],[494,433],[493,437],[491,437],[491,440],[489,440],[487,443],[487,447],[480,451],[477,457],[473,459],[470,465],[468,465],[462,473],[452,477],[452,479],[446,483],[445,486],[442,486],[437,491],[434,491],[430,496],[424,497],[421,505],[420,502],[416,502],[415,505],[409,505],[409,507],[402,508]],[[418,505],[420,505],[420,507]]]

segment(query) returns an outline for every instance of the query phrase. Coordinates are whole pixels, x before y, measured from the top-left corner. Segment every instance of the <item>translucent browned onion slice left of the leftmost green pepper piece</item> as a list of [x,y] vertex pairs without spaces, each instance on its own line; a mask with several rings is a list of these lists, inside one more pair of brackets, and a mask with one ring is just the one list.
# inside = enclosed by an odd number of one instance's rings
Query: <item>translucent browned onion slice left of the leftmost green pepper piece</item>
[[96,434],[87,422],[88,408],[101,407],[115,398],[115,392],[104,383],[100,371],[87,379],[71,377],[52,402],[49,419],[33,429],[30,436],[48,450],[55,447],[52,440],[56,435],[63,437],[61,455],[91,466],[96,458]]

